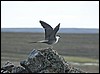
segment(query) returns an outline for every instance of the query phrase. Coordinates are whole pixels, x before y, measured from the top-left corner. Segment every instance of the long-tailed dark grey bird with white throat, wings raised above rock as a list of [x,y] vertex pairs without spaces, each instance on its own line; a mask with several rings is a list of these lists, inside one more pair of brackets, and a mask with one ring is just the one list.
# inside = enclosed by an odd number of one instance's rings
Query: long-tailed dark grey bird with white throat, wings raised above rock
[[45,30],[45,40],[30,42],[30,43],[46,43],[48,45],[51,45],[51,47],[53,44],[58,43],[60,35],[56,34],[59,30],[60,23],[53,29],[48,23],[41,20],[39,22]]

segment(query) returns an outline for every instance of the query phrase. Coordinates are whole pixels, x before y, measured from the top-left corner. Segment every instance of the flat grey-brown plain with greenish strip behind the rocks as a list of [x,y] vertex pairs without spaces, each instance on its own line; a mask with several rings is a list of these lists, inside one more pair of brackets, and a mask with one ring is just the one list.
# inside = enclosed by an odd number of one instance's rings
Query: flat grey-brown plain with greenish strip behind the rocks
[[[68,62],[99,64],[99,34],[59,33],[61,39],[53,46]],[[27,59],[32,49],[49,47],[47,44],[29,42],[44,39],[44,33],[1,32],[1,66],[6,61],[19,65]],[[99,65],[75,65],[87,72],[99,73]]]

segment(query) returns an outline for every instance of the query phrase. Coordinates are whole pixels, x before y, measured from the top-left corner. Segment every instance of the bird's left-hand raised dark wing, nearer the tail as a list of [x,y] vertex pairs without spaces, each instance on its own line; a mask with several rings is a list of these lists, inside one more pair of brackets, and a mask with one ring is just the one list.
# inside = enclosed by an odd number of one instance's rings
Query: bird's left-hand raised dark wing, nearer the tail
[[53,28],[44,21],[40,20],[40,23],[41,23],[42,27],[45,29],[45,40],[48,40],[53,31]]

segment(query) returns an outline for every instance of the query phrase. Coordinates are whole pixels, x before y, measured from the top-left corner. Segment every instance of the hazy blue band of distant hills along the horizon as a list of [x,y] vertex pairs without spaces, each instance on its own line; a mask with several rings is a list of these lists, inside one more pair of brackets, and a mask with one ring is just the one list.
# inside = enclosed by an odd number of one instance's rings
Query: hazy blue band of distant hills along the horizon
[[[43,33],[43,28],[1,28],[1,32],[37,32]],[[59,33],[99,33],[95,28],[60,28]]]

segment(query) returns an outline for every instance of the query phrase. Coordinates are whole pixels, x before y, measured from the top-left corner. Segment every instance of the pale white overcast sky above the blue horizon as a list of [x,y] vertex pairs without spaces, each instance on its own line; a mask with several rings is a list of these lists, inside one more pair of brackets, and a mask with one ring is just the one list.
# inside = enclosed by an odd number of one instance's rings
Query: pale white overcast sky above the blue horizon
[[1,1],[1,28],[98,28],[99,1]]

